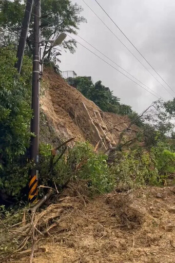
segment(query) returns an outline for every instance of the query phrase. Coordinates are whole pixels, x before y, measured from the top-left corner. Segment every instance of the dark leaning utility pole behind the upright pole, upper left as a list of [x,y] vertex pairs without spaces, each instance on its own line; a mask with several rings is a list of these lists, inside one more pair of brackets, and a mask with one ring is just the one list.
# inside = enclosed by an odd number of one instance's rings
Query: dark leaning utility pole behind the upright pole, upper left
[[24,57],[24,49],[26,46],[26,39],[27,39],[27,33],[29,29],[32,6],[33,6],[33,0],[27,0],[26,10],[24,13],[24,19],[22,23],[21,36],[20,36],[18,47],[17,47],[17,55],[16,55],[17,62],[15,64],[15,68],[17,68],[18,73],[21,73],[23,57]]

